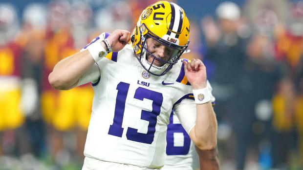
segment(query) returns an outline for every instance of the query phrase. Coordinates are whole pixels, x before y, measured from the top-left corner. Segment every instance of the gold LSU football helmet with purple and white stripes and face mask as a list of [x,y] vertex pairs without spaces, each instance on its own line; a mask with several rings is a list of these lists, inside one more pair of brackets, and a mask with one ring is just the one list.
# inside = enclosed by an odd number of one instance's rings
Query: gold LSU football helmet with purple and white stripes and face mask
[[[184,10],[173,2],[158,1],[141,14],[131,37],[134,54],[143,68],[155,76],[162,76],[172,69],[189,44],[190,23]],[[173,51],[168,61],[155,57],[147,49],[147,38],[153,38]],[[153,57],[148,62],[146,54]],[[153,65],[158,60],[164,65]]]

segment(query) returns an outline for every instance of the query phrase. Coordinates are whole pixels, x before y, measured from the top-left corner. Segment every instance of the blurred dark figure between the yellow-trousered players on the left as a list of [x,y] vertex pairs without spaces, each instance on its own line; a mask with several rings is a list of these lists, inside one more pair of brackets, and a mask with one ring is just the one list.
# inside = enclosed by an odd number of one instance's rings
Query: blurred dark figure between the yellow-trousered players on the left
[[30,141],[31,152],[42,156],[44,125],[40,95],[45,46],[46,8],[40,3],[28,4],[23,11],[22,32],[22,109],[26,115],[24,132]]

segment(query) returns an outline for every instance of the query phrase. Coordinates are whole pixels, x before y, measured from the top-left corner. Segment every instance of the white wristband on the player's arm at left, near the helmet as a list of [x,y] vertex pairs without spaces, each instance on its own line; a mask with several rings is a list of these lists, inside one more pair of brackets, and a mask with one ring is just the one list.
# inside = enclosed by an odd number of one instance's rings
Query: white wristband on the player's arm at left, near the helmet
[[102,57],[106,57],[108,55],[101,43],[103,42],[96,41],[87,47],[88,52],[90,53],[91,57],[94,58],[95,62],[98,62]]

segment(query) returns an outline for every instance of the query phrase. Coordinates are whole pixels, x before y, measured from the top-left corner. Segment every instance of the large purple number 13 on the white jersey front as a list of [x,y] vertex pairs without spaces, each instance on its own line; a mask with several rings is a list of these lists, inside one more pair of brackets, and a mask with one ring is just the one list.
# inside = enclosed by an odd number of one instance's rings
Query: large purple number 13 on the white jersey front
[[[126,97],[130,88],[129,83],[120,82],[117,85],[117,98],[112,125],[109,126],[108,134],[122,137],[124,128],[122,128]],[[152,100],[152,111],[141,111],[141,119],[149,121],[147,133],[140,133],[137,129],[128,127],[126,137],[128,140],[151,144],[154,137],[155,126],[157,124],[157,116],[160,114],[161,105],[163,102],[163,95],[161,93],[151,91],[142,87],[138,87],[134,97],[138,100],[144,98]]]

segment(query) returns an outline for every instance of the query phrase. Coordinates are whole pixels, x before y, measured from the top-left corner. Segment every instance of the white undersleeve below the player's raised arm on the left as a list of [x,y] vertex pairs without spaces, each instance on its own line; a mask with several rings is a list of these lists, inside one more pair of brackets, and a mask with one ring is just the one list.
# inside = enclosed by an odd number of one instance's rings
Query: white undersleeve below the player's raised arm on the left
[[89,83],[89,82],[96,82],[98,81],[100,74],[100,69],[97,63],[95,63],[87,72],[85,72],[79,79],[78,85],[81,86],[83,84]]

